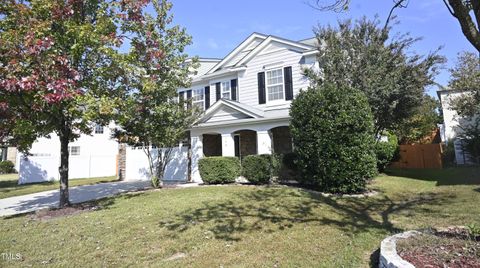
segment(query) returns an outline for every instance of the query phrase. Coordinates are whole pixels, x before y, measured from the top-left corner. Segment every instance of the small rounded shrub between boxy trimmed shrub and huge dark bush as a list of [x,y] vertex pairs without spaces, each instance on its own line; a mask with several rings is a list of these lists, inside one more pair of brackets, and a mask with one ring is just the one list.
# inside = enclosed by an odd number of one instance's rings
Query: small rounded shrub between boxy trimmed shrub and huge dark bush
[[246,156],[242,161],[243,176],[254,184],[269,183],[273,169],[272,158],[268,154]]

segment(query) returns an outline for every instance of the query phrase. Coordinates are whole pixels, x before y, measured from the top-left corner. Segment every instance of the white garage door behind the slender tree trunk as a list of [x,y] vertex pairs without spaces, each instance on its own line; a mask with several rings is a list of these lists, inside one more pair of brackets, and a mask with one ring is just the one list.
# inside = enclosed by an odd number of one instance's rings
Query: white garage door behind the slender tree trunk
[[[151,154],[156,156],[158,150],[151,149]],[[148,158],[143,149],[127,147],[125,180],[150,180]],[[171,160],[168,163],[165,181],[186,181],[188,176],[188,147],[179,146],[173,148]]]

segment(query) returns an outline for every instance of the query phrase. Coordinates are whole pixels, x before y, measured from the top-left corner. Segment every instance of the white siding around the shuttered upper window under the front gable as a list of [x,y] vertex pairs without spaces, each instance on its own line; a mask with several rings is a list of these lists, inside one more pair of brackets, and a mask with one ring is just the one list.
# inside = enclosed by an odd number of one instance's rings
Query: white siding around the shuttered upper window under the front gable
[[[258,104],[258,81],[257,74],[264,72],[265,65],[275,65],[278,67],[292,66],[293,94],[296,95],[301,88],[307,88],[309,83],[302,74],[301,69],[302,54],[296,51],[283,49],[274,53],[259,54],[247,63],[247,70],[243,76],[239,77],[239,99],[241,102],[254,106],[262,110],[272,108],[272,105]],[[285,104],[289,102],[285,101]],[[278,105],[278,103],[277,103]]]

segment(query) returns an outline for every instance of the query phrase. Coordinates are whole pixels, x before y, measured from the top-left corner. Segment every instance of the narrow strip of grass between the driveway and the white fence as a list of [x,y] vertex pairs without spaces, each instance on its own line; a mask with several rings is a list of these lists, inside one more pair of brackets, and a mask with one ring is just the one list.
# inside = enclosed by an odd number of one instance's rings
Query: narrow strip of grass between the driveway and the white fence
[[[115,180],[117,180],[115,176],[88,179],[72,179],[69,181],[69,186],[73,187],[79,185],[111,182]],[[18,185],[18,174],[0,175],[0,199],[48,190],[55,190],[59,187],[60,184],[58,181]]]

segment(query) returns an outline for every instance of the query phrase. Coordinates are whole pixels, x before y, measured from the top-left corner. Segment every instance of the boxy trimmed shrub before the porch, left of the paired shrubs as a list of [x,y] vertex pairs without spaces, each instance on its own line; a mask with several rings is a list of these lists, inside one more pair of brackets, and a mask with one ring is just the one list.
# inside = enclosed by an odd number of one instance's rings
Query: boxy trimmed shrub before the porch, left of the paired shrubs
[[204,157],[198,162],[198,168],[207,184],[232,183],[240,176],[240,160],[236,157]]

